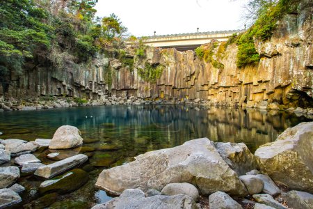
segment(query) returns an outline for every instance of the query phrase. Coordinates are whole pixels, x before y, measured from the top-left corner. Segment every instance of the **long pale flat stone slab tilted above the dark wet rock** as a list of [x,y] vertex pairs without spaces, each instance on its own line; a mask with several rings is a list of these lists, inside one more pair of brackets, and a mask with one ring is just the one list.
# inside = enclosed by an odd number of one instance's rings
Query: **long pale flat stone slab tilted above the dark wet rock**
[[83,154],[74,155],[64,160],[60,160],[58,162],[48,164],[44,167],[39,167],[35,171],[35,175],[40,176],[42,178],[52,178],[58,175],[58,173],[62,173],[64,171],[72,169],[73,167],[76,167],[77,165],[82,164],[83,162],[86,162],[87,160],[88,160],[87,155],[83,155]]

